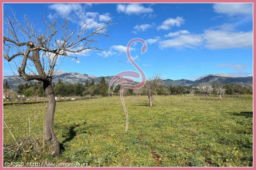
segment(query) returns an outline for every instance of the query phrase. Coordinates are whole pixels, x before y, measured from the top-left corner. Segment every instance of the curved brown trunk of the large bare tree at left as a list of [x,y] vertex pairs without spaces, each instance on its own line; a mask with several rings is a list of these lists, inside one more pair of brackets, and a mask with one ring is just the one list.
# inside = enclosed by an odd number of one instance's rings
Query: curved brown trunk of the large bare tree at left
[[54,88],[50,82],[43,82],[45,95],[47,96],[47,111],[44,121],[44,140],[52,142],[54,148],[54,156],[60,155],[60,144],[54,133],[54,111],[55,111],[55,97],[54,97]]

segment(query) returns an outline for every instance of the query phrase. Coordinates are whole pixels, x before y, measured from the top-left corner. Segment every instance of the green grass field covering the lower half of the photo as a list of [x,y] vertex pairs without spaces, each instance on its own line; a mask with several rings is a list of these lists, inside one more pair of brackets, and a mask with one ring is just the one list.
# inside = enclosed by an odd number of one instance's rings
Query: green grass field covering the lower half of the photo
[[[61,156],[22,154],[19,161],[88,166],[252,166],[252,98],[200,96],[119,97],[57,102],[54,129]],[[46,104],[4,106],[4,121],[18,141],[43,140]],[[4,125],[4,145],[14,139]],[[27,151],[29,153],[29,151]],[[13,155],[4,154],[4,161]]]

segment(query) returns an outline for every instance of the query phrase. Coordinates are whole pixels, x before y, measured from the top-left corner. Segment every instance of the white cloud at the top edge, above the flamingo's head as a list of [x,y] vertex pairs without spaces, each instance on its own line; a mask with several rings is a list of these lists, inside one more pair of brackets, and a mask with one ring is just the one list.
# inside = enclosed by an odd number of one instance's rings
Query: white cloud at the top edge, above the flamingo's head
[[141,4],[118,4],[116,7],[118,13],[126,13],[128,15],[139,15],[141,13],[153,13],[151,7],[144,7]]

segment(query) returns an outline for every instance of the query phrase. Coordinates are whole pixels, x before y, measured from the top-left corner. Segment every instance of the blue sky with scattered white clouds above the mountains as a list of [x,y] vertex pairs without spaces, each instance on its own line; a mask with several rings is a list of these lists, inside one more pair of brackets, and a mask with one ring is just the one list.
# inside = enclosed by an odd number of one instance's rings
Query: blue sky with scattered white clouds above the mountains
[[[147,77],[190,79],[207,74],[252,76],[252,4],[4,4],[4,12],[26,14],[40,27],[47,20],[71,19],[70,30],[81,22],[88,32],[112,21],[110,37],[94,44],[101,49],[83,51],[78,59],[65,58],[60,70],[95,76],[113,76],[136,70],[128,62],[125,46],[143,38],[148,51],[136,44],[132,55]],[[4,60],[4,76],[13,75],[13,63]]]

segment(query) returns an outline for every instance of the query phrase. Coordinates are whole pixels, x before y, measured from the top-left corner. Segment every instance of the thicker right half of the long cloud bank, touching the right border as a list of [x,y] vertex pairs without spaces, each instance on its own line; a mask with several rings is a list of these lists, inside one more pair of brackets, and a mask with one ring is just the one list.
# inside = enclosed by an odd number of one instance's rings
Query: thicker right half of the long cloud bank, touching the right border
[[222,30],[206,30],[205,46],[209,49],[249,48],[252,47],[252,31],[235,32]]

